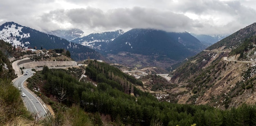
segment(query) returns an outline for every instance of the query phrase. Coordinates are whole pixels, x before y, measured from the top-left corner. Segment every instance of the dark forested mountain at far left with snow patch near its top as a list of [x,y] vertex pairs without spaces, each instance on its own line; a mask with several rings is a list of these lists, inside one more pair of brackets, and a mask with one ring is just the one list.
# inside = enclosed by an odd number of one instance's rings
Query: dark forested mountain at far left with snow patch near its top
[[74,60],[81,61],[88,57],[102,58],[100,53],[81,44],[69,42],[55,35],[46,34],[15,22],[6,22],[0,26],[0,40],[13,46],[37,49],[66,49]]

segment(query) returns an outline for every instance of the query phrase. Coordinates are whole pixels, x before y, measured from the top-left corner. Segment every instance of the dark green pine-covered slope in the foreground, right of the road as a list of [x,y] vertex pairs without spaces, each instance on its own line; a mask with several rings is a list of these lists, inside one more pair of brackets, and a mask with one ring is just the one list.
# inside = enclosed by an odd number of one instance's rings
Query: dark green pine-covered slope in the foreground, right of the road
[[[87,77],[81,79],[85,69]],[[51,104],[56,113],[61,113],[58,109],[60,106],[78,105],[84,111],[92,113],[94,125],[99,126],[106,123],[142,126],[256,124],[256,115],[253,114],[256,113],[255,105],[243,104],[237,109],[223,111],[207,105],[159,102],[150,93],[134,87],[140,85],[140,82],[136,82],[115,67],[96,60],[90,61],[88,66],[82,69],[44,67],[43,71],[38,71],[29,80],[29,85],[31,88],[41,88],[41,97],[49,97],[46,103]],[[134,95],[131,95],[131,92]]]

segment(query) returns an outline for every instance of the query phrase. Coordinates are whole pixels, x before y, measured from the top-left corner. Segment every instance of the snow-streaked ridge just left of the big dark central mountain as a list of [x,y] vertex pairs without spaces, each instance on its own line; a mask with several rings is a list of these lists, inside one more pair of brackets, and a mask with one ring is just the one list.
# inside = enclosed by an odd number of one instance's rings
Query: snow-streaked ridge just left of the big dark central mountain
[[102,43],[111,42],[122,34],[124,34],[123,30],[108,31],[103,33],[92,33],[84,37],[75,38],[71,40],[71,42],[79,43],[84,46],[89,46],[92,49],[101,50]]

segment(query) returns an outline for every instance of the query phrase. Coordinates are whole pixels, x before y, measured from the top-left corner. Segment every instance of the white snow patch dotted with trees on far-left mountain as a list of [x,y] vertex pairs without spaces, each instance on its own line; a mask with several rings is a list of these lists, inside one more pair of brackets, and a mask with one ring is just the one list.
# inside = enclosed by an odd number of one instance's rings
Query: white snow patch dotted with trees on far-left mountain
[[15,46],[22,46],[28,45],[29,42],[20,42],[22,38],[29,38],[29,33],[22,33],[22,28],[20,26],[16,26],[16,24],[11,24],[9,26],[4,26],[2,31],[0,31],[0,40],[4,40]]

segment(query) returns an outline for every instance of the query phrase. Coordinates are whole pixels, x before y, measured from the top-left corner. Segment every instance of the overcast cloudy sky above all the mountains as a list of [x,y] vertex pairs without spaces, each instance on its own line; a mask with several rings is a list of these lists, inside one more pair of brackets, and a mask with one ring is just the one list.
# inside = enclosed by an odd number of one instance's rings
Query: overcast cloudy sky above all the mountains
[[256,22],[256,0],[1,0],[0,24],[85,34],[152,28],[231,34]]

